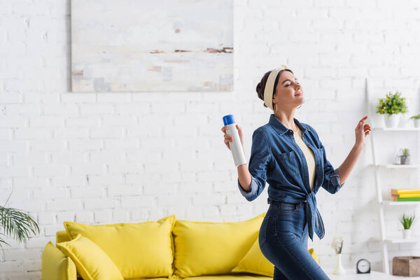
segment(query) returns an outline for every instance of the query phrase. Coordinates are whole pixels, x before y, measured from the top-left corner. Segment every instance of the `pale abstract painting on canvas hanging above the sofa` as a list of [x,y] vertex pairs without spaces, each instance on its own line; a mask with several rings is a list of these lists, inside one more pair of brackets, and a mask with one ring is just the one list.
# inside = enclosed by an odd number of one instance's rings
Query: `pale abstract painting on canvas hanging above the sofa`
[[233,90],[233,0],[71,0],[73,92]]

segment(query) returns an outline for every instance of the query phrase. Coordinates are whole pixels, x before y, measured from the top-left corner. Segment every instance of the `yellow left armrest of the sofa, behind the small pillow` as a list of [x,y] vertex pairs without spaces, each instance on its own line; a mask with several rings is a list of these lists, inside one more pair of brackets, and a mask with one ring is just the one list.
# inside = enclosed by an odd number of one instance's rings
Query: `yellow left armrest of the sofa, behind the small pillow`
[[66,257],[54,244],[48,242],[42,252],[42,280],[76,279],[76,265],[73,260]]

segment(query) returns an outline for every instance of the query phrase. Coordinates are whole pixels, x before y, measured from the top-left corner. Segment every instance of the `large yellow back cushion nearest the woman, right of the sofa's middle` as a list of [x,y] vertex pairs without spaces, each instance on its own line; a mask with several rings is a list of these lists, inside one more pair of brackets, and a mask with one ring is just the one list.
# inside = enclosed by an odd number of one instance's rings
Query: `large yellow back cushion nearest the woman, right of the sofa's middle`
[[232,223],[176,221],[173,278],[229,274],[258,237],[264,216]]

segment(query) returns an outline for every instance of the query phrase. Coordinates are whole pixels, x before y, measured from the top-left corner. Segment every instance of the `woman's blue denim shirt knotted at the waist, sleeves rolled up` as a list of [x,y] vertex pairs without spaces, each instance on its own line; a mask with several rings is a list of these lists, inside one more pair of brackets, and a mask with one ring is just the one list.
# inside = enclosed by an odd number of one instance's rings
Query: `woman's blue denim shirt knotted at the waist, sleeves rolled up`
[[316,208],[316,193],[323,187],[328,193],[337,193],[344,186],[340,184],[337,169],[328,162],[325,148],[313,127],[293,118],[302,132],[302,139],[315,156],[315,179],[313,190],[309,184],[306,158],[295,142],[293,130],[279,121],[274,114],[269,122],[258,127],[252,135],[251,157],[248,170],[251,173],[251,190],[246,192],[239,183],[241,194],[248,201],[255,200],[269,184],[268,199],[287,203],[306,202],[305,213],[309,237],[314,241],[314,232],[322,239],[325,229],[321,214]]

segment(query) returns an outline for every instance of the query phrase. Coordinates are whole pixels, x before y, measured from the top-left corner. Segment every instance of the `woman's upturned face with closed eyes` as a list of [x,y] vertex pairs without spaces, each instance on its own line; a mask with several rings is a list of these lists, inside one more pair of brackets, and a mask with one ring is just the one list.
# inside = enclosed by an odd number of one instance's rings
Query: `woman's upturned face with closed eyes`
[[279,109],[289,109],[290,107],[300,106],[302,103],[304,103],[302,86],[293,73],[283,71],[279,76],[279,83],[277,83],[276,92],[273,96],[273,104],[276,104]]

